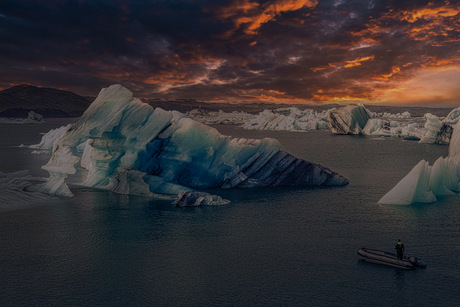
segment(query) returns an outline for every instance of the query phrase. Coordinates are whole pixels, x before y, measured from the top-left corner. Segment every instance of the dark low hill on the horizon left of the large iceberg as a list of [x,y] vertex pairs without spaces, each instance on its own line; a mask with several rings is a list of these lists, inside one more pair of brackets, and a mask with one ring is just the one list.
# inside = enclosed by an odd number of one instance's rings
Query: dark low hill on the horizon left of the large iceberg
[[0,117],[27,117],[35,111],[44,117],[78,117],[92,98],[53,88],[22,84],[0,92]]

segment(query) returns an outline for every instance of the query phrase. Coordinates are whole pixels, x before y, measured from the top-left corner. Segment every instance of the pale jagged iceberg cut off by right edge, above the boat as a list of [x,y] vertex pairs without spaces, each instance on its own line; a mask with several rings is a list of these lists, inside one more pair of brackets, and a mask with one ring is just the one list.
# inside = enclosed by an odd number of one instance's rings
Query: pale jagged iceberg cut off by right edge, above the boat
[[379,204],[410,205],[431,203],[438,196],[460,192],[460,121],[454,127],[449,155],[439,157],[430,166],[420,161],[396,186],[386,193]]

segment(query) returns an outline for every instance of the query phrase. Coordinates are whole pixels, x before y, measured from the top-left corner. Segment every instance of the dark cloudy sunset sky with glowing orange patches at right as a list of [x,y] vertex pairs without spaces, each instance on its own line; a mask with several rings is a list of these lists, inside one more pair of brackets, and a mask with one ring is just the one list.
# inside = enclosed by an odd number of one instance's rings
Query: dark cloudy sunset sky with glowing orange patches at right
[[0,89],[460,105],[460,1],[2,0]]

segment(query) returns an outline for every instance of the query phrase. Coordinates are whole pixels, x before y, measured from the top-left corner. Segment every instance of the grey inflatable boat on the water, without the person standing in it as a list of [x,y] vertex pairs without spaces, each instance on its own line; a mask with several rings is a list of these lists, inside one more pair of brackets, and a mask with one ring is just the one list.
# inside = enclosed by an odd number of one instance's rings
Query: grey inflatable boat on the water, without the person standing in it
[[416,267],[425,268],[426,263],[422,259],[414,256],[404,256],[402,260],[396,257],[396,253],[389,253],[379,251],[376,249],[360,248],[358,249],[360,255],[365,261],[389,265],[395,268],[413,270]]

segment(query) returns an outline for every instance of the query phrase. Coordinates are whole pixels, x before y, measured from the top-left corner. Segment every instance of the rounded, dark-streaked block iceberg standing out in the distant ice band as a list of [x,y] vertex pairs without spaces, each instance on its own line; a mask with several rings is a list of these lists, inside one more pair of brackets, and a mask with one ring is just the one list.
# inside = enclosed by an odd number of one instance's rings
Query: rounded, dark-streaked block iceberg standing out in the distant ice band
[[362,104],[329,110],[327,124],[333,134],[360,134],[372,117]]

